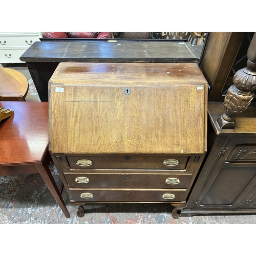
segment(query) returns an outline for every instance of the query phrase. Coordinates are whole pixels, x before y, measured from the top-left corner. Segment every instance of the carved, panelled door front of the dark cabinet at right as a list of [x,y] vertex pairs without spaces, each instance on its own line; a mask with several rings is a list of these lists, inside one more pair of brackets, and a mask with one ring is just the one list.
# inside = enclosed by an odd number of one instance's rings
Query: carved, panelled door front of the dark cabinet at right
[[256,139],[233,138],[223,148],[193,208],[256,208]]

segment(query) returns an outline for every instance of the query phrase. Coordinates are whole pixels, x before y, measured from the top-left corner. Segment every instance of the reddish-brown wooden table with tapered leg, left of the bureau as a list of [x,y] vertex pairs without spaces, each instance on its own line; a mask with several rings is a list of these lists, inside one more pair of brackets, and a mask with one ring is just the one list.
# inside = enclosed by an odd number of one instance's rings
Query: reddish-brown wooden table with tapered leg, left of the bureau
[[0,176],[39,173],[69,218],[48,167],[48,102],[0,101],[0,108],[14,111],[0,122]]

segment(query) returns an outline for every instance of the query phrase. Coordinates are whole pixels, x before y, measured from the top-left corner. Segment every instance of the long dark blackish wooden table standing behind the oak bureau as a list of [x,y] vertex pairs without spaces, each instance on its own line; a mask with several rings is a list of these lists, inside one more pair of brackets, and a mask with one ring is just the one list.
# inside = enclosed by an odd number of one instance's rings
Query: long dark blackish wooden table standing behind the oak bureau
[[[68,39],[68,38],[66,38]],[[48,39],[20,57],[26,61],[41,101],[48,101],[48,81],[60,62],[197,62],[188,42],[144,40]]]

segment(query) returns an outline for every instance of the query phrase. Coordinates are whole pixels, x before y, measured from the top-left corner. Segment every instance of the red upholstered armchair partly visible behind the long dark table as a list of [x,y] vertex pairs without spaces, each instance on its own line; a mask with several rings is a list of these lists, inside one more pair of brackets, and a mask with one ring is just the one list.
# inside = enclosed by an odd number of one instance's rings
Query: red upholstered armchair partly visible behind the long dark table
[[112,38],[111,32],[46,32],[43,38]]

